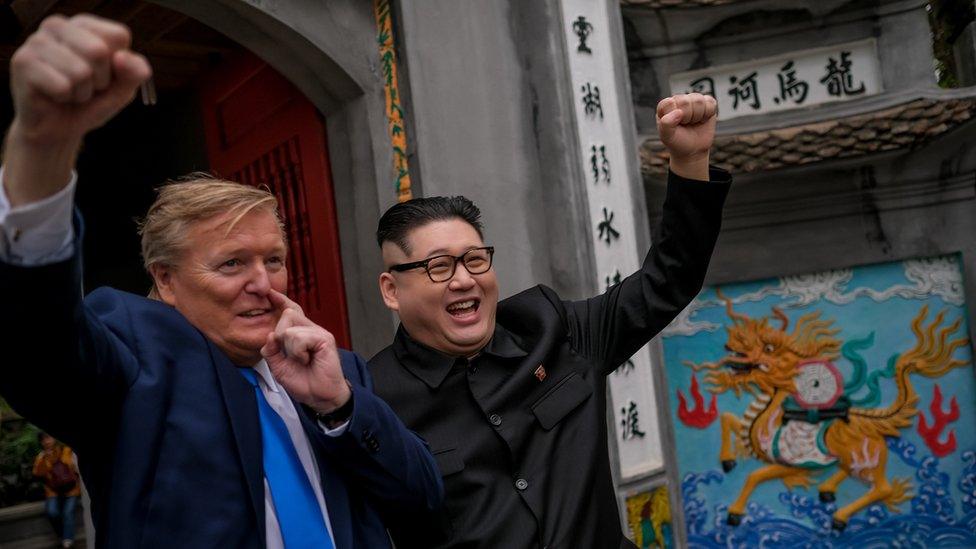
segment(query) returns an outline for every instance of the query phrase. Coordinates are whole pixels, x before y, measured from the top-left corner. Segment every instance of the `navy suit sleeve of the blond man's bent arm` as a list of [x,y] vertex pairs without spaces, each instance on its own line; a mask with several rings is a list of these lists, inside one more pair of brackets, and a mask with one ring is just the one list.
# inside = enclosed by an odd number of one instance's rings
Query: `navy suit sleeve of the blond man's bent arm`
[[345,433],[319,437],[330,460],[358,481],[381,512],[438,508],[444,486],[427,443],[373,394],[366,361],[348,351],[340,354],[352,385],[353,411]]

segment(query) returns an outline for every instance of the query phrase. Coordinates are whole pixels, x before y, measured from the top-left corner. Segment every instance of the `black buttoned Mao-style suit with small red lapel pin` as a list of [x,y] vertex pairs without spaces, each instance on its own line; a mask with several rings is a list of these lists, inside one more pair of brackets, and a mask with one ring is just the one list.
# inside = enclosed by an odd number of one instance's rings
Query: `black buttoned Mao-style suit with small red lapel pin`
[[505,299],[470,361],[402,326],[373,357],[376,393],[430,443],[446,490],[441,513],[393,525],[398,549],[633,547],[610,476],[606,376],[700,291],[731,183],[710,177],[670,175],[641,270],[606,293],[564,301],[536,286]]

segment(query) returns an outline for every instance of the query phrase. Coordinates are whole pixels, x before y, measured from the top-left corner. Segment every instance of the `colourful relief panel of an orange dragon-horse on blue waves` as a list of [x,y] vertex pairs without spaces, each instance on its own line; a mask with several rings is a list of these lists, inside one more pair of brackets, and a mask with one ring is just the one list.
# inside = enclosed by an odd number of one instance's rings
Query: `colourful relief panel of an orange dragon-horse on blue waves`
[[704,290],[664,337],[694,547],[976,547],[959,258]]

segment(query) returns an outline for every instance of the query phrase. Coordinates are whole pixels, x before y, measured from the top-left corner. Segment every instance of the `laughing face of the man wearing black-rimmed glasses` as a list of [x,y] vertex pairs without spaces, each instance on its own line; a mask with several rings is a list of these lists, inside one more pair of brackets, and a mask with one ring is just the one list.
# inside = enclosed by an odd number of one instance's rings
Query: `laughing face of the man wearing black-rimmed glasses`
[[[407,233],[409,254],[393,242],[383,243],[383,263],[421,261],[435,255],[460,256],[484,246],[469,223],[453,218],[432,221]],[[386,306],[396,311],[415,340],[451,356],[471,356],[495,331],[498,279],[494,268],[472,275],[458,264],[454,277],[433,282],[423,268],[380,275]]]

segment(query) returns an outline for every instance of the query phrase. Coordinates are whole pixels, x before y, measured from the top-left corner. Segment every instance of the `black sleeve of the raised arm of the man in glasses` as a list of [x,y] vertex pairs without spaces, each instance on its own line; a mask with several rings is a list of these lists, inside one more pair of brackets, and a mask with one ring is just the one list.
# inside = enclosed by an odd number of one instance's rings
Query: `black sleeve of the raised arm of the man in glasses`
[[605,293],[564,302],[575,350],[603,375],[629,359],[701,291],[732,177],[712,168],[711,181],[668,176],[664,213],[640,270]]

